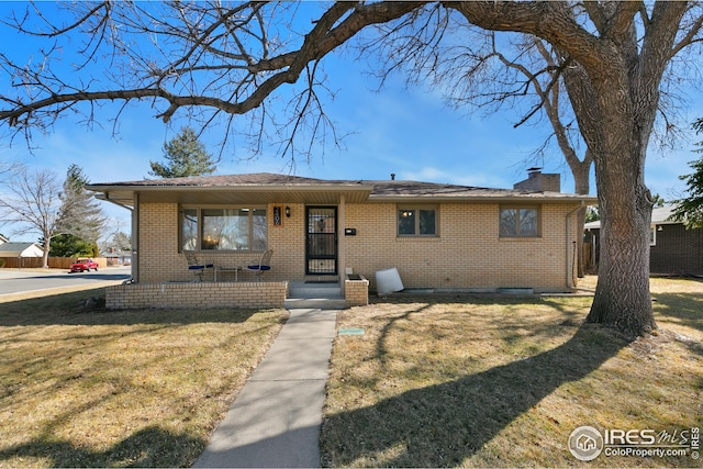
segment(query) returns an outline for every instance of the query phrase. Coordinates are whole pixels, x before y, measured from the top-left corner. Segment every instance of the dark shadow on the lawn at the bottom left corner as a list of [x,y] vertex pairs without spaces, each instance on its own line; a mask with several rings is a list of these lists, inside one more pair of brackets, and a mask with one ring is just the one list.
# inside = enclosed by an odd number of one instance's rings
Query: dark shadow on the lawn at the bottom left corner
[[0,450],[0,462],[36,458],[45,467],[187,467],[205,443],[189,435],[148,427],[102,453],[49,437],[35,439]]

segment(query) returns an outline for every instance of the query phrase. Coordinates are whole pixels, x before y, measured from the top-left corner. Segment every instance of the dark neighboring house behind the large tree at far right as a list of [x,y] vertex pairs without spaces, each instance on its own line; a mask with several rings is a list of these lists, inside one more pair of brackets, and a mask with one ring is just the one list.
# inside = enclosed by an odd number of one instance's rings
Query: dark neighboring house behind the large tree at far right
[[[655,275],[703,275],[703,230],[687,230],[670,221],[671,206],[651,212],[649,231],[649,271]],[[587,241],[593,246],[592,263],[598,267],[601,222],[585,224]]]

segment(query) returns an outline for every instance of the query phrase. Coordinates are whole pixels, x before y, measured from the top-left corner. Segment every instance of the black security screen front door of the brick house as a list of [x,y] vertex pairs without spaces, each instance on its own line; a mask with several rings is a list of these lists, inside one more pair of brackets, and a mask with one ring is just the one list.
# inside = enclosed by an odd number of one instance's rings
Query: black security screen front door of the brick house
[[305,273],[337,273],[337,208],[308,206]]

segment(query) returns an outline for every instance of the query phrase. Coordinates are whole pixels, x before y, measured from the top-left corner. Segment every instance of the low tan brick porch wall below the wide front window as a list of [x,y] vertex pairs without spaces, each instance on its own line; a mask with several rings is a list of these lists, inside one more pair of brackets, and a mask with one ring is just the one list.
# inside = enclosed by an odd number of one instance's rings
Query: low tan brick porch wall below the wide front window
[[109,310],[283,308],[288,282],[131,283],[108,287]]

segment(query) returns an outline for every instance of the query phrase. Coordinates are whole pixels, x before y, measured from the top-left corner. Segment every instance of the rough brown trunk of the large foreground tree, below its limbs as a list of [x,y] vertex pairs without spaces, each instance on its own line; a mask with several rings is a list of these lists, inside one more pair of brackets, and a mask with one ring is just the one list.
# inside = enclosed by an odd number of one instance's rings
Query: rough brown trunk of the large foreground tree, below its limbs
[[[649,294],[651,197],[645,159],[658,102],[656,87],[643,87],[628,71],[634,56],[611,56],[610,67],[591,71],[580,130],[595,165],[601,252],[599,281],[587,321],[639,336],[657,327]],[[588,119],[585,119],[588,118]]]

